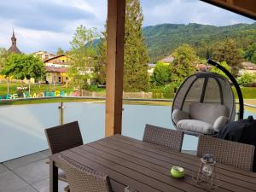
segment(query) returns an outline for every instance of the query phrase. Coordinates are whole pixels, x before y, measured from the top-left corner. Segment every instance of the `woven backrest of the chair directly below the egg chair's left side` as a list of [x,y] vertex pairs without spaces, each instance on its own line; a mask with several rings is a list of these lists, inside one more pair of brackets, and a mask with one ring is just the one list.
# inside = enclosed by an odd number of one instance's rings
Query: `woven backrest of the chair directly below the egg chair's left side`
[[183,144],[183,132],[146,124],[143,142],[154,143],[174,151],[180,151]]

